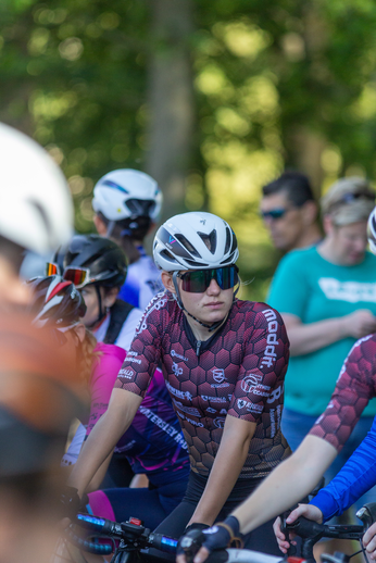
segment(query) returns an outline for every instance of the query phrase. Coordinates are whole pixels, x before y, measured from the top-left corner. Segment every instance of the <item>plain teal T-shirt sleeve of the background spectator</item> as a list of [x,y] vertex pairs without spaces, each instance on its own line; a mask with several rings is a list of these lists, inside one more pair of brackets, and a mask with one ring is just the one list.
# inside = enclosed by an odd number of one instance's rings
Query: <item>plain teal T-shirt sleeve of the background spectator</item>
[[267,303],[280,311],[304,318],[309,299],[308,280],[304,271],[304,260],[300,251],[287,254],[278,264],[274,274]]

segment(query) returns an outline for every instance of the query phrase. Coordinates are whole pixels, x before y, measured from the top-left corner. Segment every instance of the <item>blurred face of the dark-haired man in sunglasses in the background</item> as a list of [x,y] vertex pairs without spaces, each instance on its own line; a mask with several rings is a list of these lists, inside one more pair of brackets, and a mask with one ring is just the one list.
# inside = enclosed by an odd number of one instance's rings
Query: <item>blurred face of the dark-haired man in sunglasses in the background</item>
[[285,252],[297,248],[305,229],[303,207],[294,207],[286,192],[280,191],[264,196],[260,211],[274,246]]

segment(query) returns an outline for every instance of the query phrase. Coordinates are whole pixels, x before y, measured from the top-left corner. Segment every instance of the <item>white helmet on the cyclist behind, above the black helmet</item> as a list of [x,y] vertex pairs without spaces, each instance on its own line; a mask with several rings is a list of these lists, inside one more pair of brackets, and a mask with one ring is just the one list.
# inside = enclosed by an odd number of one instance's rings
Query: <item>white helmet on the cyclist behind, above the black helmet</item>
[[98,180],[93,190],[92,209],[109,221],[150,217],[156,221],[162,205],[162,192],[152,177],[131,168],[114,170]]

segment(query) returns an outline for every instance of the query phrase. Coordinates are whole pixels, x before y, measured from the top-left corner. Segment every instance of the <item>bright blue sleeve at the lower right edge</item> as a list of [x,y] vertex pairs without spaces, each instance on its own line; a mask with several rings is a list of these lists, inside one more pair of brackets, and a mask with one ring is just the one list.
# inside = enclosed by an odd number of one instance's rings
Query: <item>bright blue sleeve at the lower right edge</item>
[[310,502],[317,506],[324,522],[342,514],[371,487],[376,485],[376,418],[362,443],[341,471]]

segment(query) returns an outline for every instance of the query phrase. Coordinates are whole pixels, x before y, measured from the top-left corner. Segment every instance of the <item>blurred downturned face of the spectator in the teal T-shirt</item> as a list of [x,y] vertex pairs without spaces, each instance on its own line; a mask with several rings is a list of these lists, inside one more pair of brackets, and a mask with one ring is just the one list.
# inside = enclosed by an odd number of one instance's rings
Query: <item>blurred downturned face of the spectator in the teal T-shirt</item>
[[359,221],[337,227],[325,217],[324,227],[337,264],[352,266],[364,260],[367,248],[367,222]]

